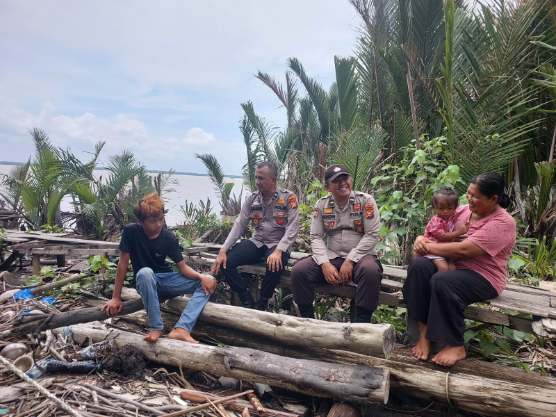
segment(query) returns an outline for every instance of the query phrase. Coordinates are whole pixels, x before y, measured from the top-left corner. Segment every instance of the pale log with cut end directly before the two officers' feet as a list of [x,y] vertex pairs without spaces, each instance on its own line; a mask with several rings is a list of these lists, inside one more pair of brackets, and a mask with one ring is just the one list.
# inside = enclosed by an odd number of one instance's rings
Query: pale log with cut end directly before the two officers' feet
[[[122,291],[124,300],[136,297],[137,292],[131,288]],[[174,297],[166,304],[181,313],[187,301],[187,297]],[[229,329],[267,337],[278,343],[349,350],[386,359],[391,356],[395,343],[395,330],[389,324],[325,322],[211,302],[206,304],[199,320],[215,325],[225,322]]]

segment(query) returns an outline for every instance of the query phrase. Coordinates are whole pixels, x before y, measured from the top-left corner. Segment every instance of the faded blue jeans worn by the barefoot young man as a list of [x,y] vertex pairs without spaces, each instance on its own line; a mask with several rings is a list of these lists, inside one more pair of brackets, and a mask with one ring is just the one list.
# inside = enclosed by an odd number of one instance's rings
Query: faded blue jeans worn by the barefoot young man
[[151,330],[164,329],[160,304],[162,301],[177,295],[193,294],[174,326],[186,329],[191,333],[199,314],[210,297],[210,294],[204,295],[201,281],[184,277],[180,272],[155,274],[151,268],[141,268],[137,272],[135,282],[137,292],[141,296],[145,311],[147,311]]

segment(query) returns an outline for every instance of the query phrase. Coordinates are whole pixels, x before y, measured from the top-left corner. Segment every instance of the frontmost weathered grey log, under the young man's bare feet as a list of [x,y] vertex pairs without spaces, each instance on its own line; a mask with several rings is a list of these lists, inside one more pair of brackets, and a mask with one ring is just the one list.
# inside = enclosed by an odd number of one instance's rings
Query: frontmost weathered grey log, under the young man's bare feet
[[177,359],[191,370],[280,386],[317,397],[338,398],[355,404],[388,401],[389,372],[382,368],[291,359],[245,347],[213,347],[170,338],[149,343],[142,341],[139,334],[90,325],[74,325],[72,338],[77,343],[85,338],[94,343],[113,338],[117,347],[126,343],[135,345],[152,361],[175,365]]

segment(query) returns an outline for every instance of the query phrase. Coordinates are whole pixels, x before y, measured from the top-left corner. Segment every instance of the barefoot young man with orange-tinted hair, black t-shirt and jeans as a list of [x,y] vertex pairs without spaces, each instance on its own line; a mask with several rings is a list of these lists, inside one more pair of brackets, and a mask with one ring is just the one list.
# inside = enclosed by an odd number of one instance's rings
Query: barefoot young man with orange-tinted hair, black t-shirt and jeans
[[[183,261],[178,238],[170,230],[163,229],[164,203],[158,193],[143,197],[133,208],[133,213],[137,216],[137,223],[127,224],[122,231],[114,293],[101,310],[106,309],[106,315],[111,317],[122,311],[122,286],[131,258],[133,284],[141,296],[151,327],[143,340],[156,342],[163,334],[159,298],[193,293],[168,337],[199,343],[190,333],[216,288],[215,279],[211,275],[199,274]],[[166,256],[176,263],[179,272],[173,272]]]

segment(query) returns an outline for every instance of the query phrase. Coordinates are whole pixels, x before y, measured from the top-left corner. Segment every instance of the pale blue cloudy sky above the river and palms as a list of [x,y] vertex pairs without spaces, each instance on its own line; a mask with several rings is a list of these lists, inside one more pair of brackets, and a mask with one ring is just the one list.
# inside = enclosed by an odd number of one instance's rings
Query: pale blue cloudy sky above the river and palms
[[299,58],[328,88],[334,55],[353,55],[347,0],[0,0],[0,161],[33,154],[28,129],[82,161],[129,149],[150,170],[205,172],[213,154],[240,174],[240,104],[286,122],[253,74],[284,81]]

